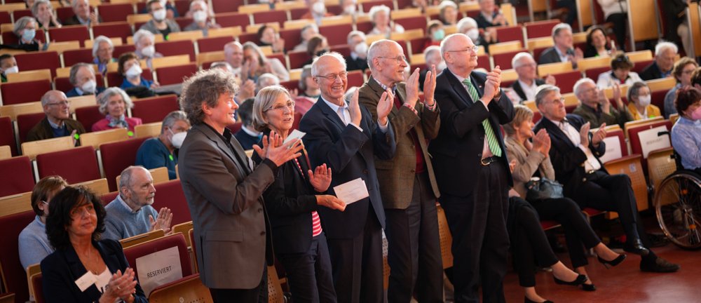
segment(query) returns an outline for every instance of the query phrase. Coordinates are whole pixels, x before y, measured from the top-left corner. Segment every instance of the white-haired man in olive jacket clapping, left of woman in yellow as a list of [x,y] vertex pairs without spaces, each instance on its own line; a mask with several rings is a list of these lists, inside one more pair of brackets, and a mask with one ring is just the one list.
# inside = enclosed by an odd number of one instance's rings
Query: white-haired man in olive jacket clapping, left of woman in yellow
[[604,90],[600,90],[592,79],[579,79],[574,83],[573,90],[580,105],[574,109],[572,114],[582,117],[584,121],[591,124],[592,128],[604,128],[604,126],[615,124],[623,128],[627,121],[633,120],[633,116],[623,104],[618,83],[613,84],[615,108],[611,106],[611,101],[604,95]]

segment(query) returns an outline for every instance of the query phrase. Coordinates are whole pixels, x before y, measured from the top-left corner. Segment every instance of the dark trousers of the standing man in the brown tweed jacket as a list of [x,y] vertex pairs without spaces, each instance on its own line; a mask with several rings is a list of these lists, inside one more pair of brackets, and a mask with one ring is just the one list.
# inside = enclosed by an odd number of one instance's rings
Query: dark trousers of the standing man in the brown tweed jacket
[[413,192],[407,209],[385,209],[390,266],[387,299],[408,303],[416,290],[418,302],[443,302],[436,197],[426,173],[416,175]]

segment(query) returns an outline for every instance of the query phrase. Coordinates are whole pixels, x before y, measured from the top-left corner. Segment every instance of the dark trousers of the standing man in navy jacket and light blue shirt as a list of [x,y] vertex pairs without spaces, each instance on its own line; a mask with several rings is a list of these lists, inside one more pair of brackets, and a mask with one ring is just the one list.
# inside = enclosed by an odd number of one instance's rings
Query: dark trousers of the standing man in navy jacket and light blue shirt
[[327,238],[338,302],[382,302],[382,227],[368,204],[365,229],[355,238]]

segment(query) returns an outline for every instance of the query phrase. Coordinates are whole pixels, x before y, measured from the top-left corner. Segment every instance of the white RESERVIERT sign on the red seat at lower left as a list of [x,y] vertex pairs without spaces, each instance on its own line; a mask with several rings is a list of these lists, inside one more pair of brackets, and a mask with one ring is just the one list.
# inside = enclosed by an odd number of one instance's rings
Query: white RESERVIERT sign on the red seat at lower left
[[138,257],[136,268],[139,269],[139,285],[146,297],[149,297],[154,288],[182,278],[180,253],[177,246]]

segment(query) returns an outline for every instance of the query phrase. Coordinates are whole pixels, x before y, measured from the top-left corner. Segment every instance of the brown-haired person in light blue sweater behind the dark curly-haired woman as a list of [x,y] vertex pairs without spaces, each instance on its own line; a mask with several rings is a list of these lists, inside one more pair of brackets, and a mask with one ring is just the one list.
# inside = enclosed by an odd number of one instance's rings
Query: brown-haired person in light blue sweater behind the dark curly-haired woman
[[20,232],[18,242],[20,244],[20,262],[22,268],[34,265],[44,257],[53,253],[53,246],[46,236],[46,217],[48,216],[48,203],[59,191],[68,186],[68,182],[62,177],[53,175],[43,177],[36,182],[32,189],[32,209],[36,217],[25,229]]

